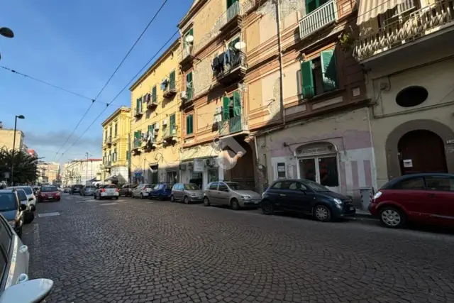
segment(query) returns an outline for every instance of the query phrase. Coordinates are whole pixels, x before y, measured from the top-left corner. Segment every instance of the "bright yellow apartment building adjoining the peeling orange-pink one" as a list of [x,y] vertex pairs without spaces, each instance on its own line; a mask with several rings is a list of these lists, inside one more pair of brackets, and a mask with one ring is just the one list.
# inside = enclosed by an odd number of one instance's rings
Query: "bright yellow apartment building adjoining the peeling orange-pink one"
[[181,145],[179,40],[130,87],[135,183],[178,182]]

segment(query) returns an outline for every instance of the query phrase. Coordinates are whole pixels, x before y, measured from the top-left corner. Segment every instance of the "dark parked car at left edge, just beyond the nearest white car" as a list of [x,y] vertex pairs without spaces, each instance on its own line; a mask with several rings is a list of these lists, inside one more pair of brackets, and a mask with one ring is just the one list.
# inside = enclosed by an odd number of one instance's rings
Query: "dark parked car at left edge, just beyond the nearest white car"
[[5,217],[18,237],[22,238],[24,214],[28,206],[23,203],[24,201],[21,201],[19,196],[25,196],[27,199],[25,192],[21,189],[18,191],[0,189],[0,213]]

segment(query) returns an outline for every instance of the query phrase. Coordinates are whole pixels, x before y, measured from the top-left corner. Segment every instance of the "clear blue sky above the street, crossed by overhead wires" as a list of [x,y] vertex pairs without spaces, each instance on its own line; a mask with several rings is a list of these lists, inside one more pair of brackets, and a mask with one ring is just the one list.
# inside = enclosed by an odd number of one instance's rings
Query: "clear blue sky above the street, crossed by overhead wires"
[[[0,26],[15,37],[0,36],[0,65],[94,98],[133,45],[164,0],[7,0]],[[109,102],[177,30],[192,0],[168,0],[148,31],[121,66],[99,101]],[[18,129],[25,143],[44,160],[52,161],[91,101],[61,92],[26,77],[0,69],[0,121]],[[60,162],[101,158],[101,122],[120,105],[131,106],[126,89]],[[105,104],[95,103],[70,141],[76,141]]]

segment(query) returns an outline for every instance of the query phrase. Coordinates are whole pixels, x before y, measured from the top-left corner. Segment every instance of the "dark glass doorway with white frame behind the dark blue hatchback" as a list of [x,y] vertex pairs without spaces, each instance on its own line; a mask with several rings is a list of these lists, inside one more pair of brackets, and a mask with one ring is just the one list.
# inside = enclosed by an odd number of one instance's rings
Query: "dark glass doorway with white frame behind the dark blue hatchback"
[[299,158],[298,165],[299,178],[322,184],[333,192],[340,192],[336,155]]

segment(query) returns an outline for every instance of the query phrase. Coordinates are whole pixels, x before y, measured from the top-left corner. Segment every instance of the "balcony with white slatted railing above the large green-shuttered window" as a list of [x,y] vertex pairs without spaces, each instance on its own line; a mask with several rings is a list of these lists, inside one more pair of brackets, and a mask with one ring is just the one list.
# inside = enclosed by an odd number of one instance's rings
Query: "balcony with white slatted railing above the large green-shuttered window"
[[311,13],[299,20],[299,38],[304,39],[319,29],[336,22],[338,18],[338,9],[335,0],[331,0],[319,6]]

